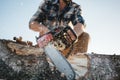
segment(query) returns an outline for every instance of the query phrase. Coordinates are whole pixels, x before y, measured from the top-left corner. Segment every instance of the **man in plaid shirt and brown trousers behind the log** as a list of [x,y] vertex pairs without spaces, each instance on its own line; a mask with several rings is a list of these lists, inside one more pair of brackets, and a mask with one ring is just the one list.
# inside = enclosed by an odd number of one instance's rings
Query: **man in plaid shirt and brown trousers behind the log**
[[87,52],[89,35],[84,31],[85,21],[81,16],[80,6],[72,0],[44,0],[31,18],[29,28],[39,32],[41,36],[54,27],[66,26],[70,22],[78,37],[73,45],[72,54]]

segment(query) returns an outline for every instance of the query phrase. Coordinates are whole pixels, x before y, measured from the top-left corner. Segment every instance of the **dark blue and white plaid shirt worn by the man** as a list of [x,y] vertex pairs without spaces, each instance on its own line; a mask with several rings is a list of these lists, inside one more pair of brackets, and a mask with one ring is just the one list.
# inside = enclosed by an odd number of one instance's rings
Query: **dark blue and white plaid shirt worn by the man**
[[30,22],[32,21],[37,21],[48,28],[51,28],[51,26],[66,26],[70,21],[73,26],[77,23],[84,25],[80,5],[74,2],[67,5],[62,11],[59,10],[59,2],[55,4],[44,2],[31,18]]

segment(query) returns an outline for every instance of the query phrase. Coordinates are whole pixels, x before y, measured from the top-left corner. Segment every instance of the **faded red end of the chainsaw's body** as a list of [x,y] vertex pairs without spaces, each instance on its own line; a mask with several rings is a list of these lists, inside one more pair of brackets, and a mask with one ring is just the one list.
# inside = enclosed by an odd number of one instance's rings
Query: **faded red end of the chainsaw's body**
[[43,48],[53,39],[52,34],[45,34],[37,40],[38,46]]

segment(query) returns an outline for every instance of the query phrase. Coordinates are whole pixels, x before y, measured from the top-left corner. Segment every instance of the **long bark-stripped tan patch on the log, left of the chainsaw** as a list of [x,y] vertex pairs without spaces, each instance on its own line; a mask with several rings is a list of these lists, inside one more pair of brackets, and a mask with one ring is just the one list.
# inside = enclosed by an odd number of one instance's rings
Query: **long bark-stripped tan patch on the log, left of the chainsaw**
[[42,48],[36,48],[36,47],[17,44],[13,42],[8,43],[7,46],[8,48],[10,48],[12,52],[15,52],[17,55],[33,54],[37,56],[44,53],[44,50]]

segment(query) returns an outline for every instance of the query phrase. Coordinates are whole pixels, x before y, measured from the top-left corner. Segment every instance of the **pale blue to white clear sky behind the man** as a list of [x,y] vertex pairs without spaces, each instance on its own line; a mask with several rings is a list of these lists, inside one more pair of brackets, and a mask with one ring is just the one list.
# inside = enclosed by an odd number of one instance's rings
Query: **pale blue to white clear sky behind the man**
[[[42,0],[1,0],[0,39],[22,36],[36,43],[37,32],[29,30],[28,22]],[[81,5],[90,34],[88,52],[120,55],[120,0],[73,0]]]

